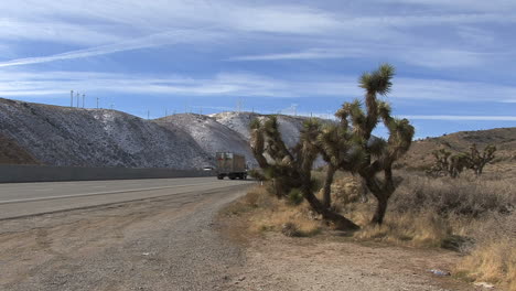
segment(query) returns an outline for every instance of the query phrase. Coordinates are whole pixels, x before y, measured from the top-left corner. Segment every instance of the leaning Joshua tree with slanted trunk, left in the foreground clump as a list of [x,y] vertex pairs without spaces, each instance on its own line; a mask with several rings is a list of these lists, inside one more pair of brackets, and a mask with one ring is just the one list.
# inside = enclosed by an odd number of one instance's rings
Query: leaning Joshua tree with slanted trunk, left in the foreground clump
[[288,149],[281,139],[276,117],[270,117],[265,121],[254,120],[251,123],[252,153],[265,176],[275,183],[276,195],[281,197],[297,188],[324,219],[335,223],[340,229],[357,229],[357,225],[325,207],[315,197],[312,166],[319,154],[316,140],[320,132],[319,122],[313,119],[305,121],[300,141],[293,149]]

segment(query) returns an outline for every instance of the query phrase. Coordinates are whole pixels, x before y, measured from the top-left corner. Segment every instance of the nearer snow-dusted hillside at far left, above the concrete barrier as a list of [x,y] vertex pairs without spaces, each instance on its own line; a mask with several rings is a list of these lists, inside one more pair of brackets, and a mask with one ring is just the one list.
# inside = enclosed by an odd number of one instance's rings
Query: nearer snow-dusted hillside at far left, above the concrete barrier
[[183,130],[114,110],[0,99],[0,133],[51,165],[198,169],[209,155]]

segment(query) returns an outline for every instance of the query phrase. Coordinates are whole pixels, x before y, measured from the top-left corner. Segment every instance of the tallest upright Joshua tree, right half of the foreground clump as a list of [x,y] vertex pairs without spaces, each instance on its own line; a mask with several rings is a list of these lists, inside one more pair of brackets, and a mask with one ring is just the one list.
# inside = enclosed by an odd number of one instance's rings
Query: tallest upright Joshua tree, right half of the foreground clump
[[[384,64],[375,72],[363,74],[359,86],[365,89],[366,111],[362,103],[355,100],[344,104],[335,114],[341,119],[341,127],[350,132],[352,142],[351,149],[344,148],[350,150],[340,169],[358,173],[376,197],[378,203],[372,219],[374,224],[384,222],[388,200],[397,187],[393,163],[408,151],[415,132],[407,119],[393,118],[389,105],[377,98],[377,95],[385,96],[390,91],[394,73],[391,65]],[[380,121],[388,129],[387,140],[372,136]],[[383,177],[378,176],[380,173]]]

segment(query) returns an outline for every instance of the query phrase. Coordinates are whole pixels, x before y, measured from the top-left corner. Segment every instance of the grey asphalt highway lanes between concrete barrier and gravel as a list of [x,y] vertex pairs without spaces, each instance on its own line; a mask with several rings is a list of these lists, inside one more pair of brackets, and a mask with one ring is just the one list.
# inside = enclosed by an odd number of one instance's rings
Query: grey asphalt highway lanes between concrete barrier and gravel
[[216,177],[0,184],[0,219],[169,195],[222,190],[251,181]]

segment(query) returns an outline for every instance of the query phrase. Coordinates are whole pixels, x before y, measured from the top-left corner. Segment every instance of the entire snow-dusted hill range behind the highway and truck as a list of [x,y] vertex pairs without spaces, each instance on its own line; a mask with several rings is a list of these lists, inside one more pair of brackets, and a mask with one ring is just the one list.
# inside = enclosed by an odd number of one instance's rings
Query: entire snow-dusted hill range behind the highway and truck
[[[254,165],[249,123],[265,117],[223,112],[144,120],[116,110],[0,98],[0,136],[49,165],[200,169],[214,165],[217,151],[244,154]],[[304,118],[278,119],[286,143],[293,147]]]

